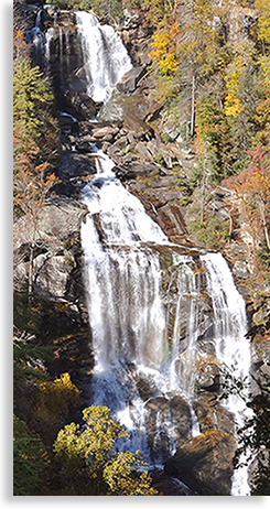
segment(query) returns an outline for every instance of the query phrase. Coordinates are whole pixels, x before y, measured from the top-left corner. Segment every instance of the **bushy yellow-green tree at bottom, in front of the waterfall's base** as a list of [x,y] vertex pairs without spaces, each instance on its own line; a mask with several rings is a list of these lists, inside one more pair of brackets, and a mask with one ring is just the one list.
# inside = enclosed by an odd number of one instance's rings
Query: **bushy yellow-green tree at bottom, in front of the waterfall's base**
[[[85,424],[74,422],[60,431],[54,443],[64,490],[73,495],[155,495],[141,453],[117,453],[127,430],[110,416],[107,407],[83,411]],[[75,481],[75,483],[74,483]]]

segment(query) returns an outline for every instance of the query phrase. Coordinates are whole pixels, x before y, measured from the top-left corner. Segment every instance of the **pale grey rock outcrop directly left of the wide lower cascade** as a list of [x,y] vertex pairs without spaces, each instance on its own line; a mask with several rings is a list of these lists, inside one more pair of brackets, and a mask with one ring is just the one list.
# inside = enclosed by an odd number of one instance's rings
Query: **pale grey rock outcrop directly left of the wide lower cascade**
[[14,225],[15,288],[26,284],[33,246],[33,290],[44,299],[66,303],[78,323],[88,321],[79,240],[86,213],[74,198],[54,197],[41,208],[34,230],[28,216]]

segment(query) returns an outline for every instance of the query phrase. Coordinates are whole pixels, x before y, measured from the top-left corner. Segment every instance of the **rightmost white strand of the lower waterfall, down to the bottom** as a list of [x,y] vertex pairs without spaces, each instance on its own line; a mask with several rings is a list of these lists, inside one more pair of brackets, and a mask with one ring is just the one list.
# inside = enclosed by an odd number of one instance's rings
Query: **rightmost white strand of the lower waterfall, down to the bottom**
[[[234,377],[247,380],[251,362],[250,348],[246,339],[247,318],[245,301],[237,291],[231,272],[220,253],[207,253],[202,257],[207,269],[209,292],[213,299],[215,316],[215,340],[218,359],[233,369]],[[231,412],[235,430],[245,423],[244,416],[250,416],[245,403],[247,390],[241,397],[229,394],[224,405]],[[244,457],[242,457],[244,459]],[[231,495],[249,495],[248,468],[241,466],[233,476]]]

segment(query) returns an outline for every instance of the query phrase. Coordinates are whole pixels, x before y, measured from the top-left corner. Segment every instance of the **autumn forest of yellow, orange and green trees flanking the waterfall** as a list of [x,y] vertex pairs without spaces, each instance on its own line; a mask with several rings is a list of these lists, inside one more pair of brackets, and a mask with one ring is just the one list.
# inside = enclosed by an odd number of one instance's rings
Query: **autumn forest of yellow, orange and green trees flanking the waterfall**
[[[39,210],[60,177],[61,130],[52,79],[36,66],[20,6],[13,0],[13,209],[28,217],[28,285],[14,290],[13,473],[15,496],[154,496],[141,453],[117,453],[128,432],[107,407],[85,408],[68,369],[51,367],[68,339],[86,336],[65,320],[65,304],[33,291]],[[39,3],[39,2],[36,2]],[[40,4],[44,2],[40,2]],[[175,166],[187,228],[195,242],[229,252],[245,225],[252,277],[250,342],[269,342],[270,324],[270,3],[266,0],[51,0],[120,25],[125,11],[153,26],[151,67],[156,98],[191,169]],[[244,17],[245,14],[245,17]],[[242,17],[242,18],[241,18]],[[240,19],[245,19],[245,26]],[[241,32],[241,35],[239,34]],[[244,33],[244,35],[242,35]],[[163,143],[170,136],[161,133]],[[162,161],[161,161],[162,163]],[[217,220],[212,192],[225,188],[229,218]],[[25,253],[23,253],[24,256]],[[60,318],[60,320],[58,320]],[[237,387],[237,381],[233,381]],[[233,383],[231,382],[231,383]],[[233,386],[234,386],[233,383]],[[255,380],[253,416],[239,432],[240,451],[257,455],[252,495],[269,495],[269,377]],[[241,388],[240,388],[241,389]],[[255,430],[255,432],[253,432]],[[90,461],[89,461],[90,458]]]

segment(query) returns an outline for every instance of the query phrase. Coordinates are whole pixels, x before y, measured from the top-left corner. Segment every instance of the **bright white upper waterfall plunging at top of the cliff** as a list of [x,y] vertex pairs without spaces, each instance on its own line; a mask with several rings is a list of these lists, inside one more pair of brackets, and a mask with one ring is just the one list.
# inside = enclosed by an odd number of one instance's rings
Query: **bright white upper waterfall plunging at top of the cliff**
[[89,12],[76,12],[84,55],[87,94],[96,101],[108,102],[112,90],[132,64],[121,37],[107,24],[100,25]]

